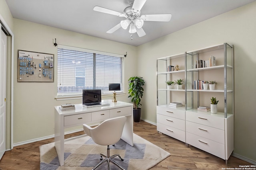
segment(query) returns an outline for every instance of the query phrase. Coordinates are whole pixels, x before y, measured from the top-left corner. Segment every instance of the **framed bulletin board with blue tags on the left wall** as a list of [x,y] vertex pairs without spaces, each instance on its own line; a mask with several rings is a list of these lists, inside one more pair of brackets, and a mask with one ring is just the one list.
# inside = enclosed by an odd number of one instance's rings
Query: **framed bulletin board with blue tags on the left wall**
[[54,55],[18,50],[18,82],[53,82]]

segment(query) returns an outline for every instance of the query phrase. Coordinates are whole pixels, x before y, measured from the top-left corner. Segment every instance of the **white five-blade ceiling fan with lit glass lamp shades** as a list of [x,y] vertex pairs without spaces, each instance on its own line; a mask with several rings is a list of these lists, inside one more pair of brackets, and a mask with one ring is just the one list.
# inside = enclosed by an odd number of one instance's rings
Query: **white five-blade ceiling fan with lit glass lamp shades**
[[136,33],[139,37],[146,35],[145,31],[142,29],[144,21],[170,21],[172,14],[149,14],[140,16],[140,10],[145,4],[146,0],[128,0],[130,6],[124,9],[124,12],[116,12],[114,10],[109,10],[100,6],[95,6],[94,11],[103,12],[106,14],[111,14],[119,17],[124,17],[126,20],[122,20],[116,26],[107,31],[107,33],[113,33],[119,28],[127,29],[129,27],[129,33]]

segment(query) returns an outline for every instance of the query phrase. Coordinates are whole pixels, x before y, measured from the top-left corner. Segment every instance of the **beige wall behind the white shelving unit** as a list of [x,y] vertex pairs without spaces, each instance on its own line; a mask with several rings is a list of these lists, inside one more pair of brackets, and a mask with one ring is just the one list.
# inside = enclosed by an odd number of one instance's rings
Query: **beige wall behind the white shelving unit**
[[[234,45],[234,154],[256,161],[256,2],[138,47],[145,79],[142,118],[156,122],[156,59],[220,43]],[[154,68],[154,69],[148,69]],[[155,75],[155,76],[152,76]]]

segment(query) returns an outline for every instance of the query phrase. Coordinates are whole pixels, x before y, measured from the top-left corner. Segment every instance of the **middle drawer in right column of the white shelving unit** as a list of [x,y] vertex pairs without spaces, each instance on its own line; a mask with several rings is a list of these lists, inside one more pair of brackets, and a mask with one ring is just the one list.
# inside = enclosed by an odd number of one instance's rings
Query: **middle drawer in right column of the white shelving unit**
[[204,137],[222,144],[225,143],[224,130],[193,123],[190,121],[186,121],[186,129],[187,132],[198,135],[200,137]]

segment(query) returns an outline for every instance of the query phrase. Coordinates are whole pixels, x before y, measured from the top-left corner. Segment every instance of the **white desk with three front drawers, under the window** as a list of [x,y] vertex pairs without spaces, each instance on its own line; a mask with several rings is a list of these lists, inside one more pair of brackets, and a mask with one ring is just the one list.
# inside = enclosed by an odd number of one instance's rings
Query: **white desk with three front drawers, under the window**
[[125,102],[112,102],[104,100],[109,106],[86,108],[82,104],[75,104],[76,109],[61,111],[55,106],[54,111],[54,145],[60,161],[64,165],[64,129],[83,124],[100,123],[112,117],[126,116],[126,123],[121,139],[133,146],[133,108],[132,104]]

